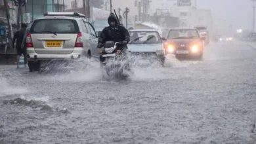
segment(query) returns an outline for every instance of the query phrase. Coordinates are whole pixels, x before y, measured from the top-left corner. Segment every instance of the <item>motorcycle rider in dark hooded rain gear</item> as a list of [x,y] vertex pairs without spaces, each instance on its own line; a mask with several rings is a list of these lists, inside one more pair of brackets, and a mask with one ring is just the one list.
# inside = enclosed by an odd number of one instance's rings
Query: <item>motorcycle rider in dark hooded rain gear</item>
[[[100,33],[98,37],[98,46],[97,48],[102,48],[104,46],[104,43],[106,41],[114,41],[115,43],[118,42],[121,47],[121,51],[123,54],[127,53],[127,43],[130,41],[130,35],[127,29],[123,26],[120,26],[118,24],[116,16],[112,13],[108,17],[108,24],[110,26],[105,27],[102,30],[102,33]],[[100,62],[103,62],[104,59],[102,55],[100,56]]]

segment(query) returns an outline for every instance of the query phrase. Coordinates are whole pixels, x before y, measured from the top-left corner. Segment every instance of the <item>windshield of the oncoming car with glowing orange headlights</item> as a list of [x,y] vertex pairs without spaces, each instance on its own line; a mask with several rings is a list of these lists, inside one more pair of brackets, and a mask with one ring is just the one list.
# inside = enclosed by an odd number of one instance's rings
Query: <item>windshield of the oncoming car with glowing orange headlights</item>
[[198,39],[198,31],[196,29],[175,29],[171,30],[168,39]]

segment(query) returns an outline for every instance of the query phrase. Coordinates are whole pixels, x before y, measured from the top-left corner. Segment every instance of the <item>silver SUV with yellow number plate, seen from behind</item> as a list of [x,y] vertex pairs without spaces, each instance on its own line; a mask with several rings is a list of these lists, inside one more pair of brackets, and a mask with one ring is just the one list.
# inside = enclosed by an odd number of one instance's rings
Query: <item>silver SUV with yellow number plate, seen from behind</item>
[[94,27],[77,12],[47,12],[34,20],[26,37],[30,71],[49,60],[92,56],[98,38]]

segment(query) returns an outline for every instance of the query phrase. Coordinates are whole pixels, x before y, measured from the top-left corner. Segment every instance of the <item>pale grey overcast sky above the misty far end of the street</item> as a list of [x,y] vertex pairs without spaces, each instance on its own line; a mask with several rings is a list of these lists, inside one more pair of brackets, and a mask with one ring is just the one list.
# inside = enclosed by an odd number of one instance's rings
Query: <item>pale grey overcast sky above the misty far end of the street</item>
[[211,9],[215,26],[221,29],[230,24],[234,29],[252,29],[251,0],[198,0],[198,9]]

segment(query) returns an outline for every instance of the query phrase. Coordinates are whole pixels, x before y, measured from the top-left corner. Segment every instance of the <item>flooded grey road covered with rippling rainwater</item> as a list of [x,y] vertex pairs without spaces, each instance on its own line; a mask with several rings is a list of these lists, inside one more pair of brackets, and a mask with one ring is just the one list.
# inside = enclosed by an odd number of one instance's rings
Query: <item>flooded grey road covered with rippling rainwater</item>
[[87,70],[0,70],[0,143],[256,143],[256,48],[213,43],[203,62],[135,68],[129,81]]

